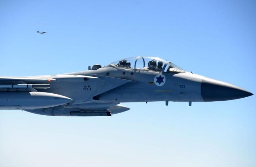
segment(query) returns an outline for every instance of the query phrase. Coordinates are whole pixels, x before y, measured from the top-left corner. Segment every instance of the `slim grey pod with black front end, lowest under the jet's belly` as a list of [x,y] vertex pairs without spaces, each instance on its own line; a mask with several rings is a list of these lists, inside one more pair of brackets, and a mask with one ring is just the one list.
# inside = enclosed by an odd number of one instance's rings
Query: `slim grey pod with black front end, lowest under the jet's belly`
[[71,116],[111,116],[109,110],[81,110],[81,111],[71,111]]

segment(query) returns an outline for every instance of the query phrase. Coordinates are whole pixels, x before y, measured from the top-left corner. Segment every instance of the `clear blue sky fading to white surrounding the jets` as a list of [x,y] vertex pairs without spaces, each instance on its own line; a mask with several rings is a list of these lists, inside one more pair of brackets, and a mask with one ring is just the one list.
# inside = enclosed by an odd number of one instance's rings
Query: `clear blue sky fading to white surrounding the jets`
[[[256,93],[256,1],[0,1],[0,76],[158,56]],[[47,34],[37,34],[36,31]],[[0,166],[256,166],[256,96],[125,103],[111,117],[0,111]]]

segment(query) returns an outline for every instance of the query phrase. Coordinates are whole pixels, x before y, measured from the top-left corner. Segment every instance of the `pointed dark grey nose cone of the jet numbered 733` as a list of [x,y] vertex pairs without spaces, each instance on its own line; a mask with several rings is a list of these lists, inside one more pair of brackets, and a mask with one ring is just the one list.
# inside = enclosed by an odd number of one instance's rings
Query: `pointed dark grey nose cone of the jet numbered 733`
[[204,101],[234,100],[253,95],[237,86],[206,78],[201,83],[201,95]]

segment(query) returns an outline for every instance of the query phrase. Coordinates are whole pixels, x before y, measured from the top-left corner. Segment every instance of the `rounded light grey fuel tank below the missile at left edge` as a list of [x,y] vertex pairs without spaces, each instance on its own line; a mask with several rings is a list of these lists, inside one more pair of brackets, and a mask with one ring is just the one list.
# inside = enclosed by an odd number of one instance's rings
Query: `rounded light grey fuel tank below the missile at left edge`
[[69,103],[72,99],[54,93],[0,92],[0,109],[42,109]]

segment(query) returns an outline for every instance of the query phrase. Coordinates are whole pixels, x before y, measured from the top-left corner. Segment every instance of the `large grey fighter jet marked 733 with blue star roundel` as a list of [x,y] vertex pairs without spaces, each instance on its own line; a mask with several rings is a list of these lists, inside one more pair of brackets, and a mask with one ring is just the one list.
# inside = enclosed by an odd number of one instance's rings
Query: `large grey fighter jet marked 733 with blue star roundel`
[[244,98],[247,90],[187,72],[157,57],[125,58],[87,71],[0,77],[0,109],[51,116],[111,116],[125,102],[208,102]]

